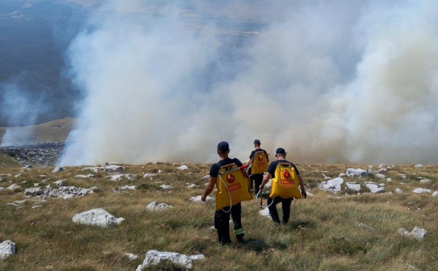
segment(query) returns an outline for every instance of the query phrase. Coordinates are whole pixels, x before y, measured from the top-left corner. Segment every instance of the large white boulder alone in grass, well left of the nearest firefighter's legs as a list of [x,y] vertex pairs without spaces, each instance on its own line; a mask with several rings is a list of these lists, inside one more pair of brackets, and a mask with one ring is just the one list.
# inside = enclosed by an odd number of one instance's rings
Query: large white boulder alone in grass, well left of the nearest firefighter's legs
[[73,216],[73,222],[76,224],[86,224],[90,226],[107,228],[120,224],[121,221],[120,218],[116,219],[104,209],[98,208],[84,211],[81,214],[76,214]]

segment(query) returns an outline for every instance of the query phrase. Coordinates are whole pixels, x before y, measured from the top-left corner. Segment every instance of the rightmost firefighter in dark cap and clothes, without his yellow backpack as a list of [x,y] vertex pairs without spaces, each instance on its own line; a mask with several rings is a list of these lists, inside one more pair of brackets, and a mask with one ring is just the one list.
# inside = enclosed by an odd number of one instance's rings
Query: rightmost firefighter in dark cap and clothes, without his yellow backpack
[[[276,167],[279,165],[279,163],[289,163],[292,164],[294,167],[294,170],[296,171],[296,175],[298,175],[298,179],[300,180],[300,188],[301,188],[301,195],[302,197],[307,197],[307,192],[304,186],[304,183],[302,181],[302,178],[300,176],[300,173],[298,172],[298,169],[294,165],[294,163],[288,162],[286,160],[286,151],[283,148],[276,149],[275,152],[276,161],[272,162],[268,167],[268,173],[266,173],[265,177],[263,178],[263,181],[261,182],[260,189],[263,189],[263,187],[268,183],[269,179],[275,177],[275,170]],[[278,203],[281,203],[281,209],[283,210],[283,224],[287,224],[289,222],[289,216],[290,216],[290,205],[292,204],[292,200],[294,198],[281,198],[280,196],[276,196],[275,198],[268,198],[268,206],[269,206],[269,214],[272,218],[272,221],[274,221],[276,224],[280,225],[280,218],[279,218],[279,212],[276,210],[276,205]],[[272,203],[274,201],[274,203]],[[272,203],[272,204],[271,204]]]

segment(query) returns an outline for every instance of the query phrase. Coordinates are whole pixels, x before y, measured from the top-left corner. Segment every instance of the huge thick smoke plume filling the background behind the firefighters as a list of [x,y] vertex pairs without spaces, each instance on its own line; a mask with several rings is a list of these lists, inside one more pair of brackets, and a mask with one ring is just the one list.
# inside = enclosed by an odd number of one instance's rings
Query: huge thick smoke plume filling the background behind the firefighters
[[[60,164],[438,162],[436,1],[108,1],[69,50]],[[177,4],[178,3],[178,4]],[[203,4],[204,3],[204,4]]]

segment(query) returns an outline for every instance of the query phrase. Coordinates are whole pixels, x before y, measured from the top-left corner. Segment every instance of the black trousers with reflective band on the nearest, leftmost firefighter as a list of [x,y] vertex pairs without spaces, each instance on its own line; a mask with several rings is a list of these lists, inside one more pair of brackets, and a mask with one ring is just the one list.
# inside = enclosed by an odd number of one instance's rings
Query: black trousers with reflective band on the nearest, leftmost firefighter
[[[229,210],[229,207],[224,207],[225,211]],[[242,229],[242,205],[237,203],[231,207],[231,212],[226,213],[220,209],[214,213],[214,227],[218,230],[218,241],[220,244],[230,244],[230,214],[234,224],[234,233],[237,240],[242,239],[244,236],[244,230]]]

